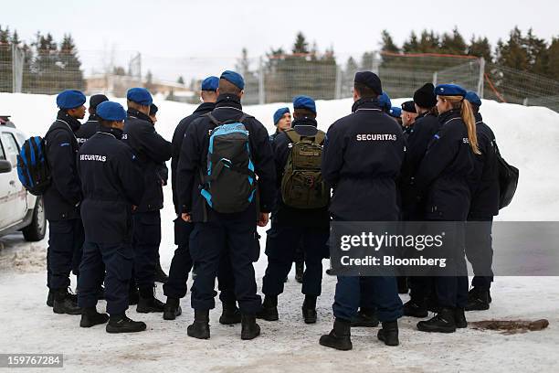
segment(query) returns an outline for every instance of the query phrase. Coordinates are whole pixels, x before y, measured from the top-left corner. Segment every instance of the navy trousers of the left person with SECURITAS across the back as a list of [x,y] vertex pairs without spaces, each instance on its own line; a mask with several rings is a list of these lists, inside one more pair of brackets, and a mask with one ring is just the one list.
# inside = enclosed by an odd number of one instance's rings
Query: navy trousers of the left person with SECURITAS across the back
[[[133,250],[130,243],[86,242],[79,266],[79,307],[94,307],[99,288],[105,281],[108,314],[124,314],[132,277]],[[106,274],[105,274],[106,271]]]

